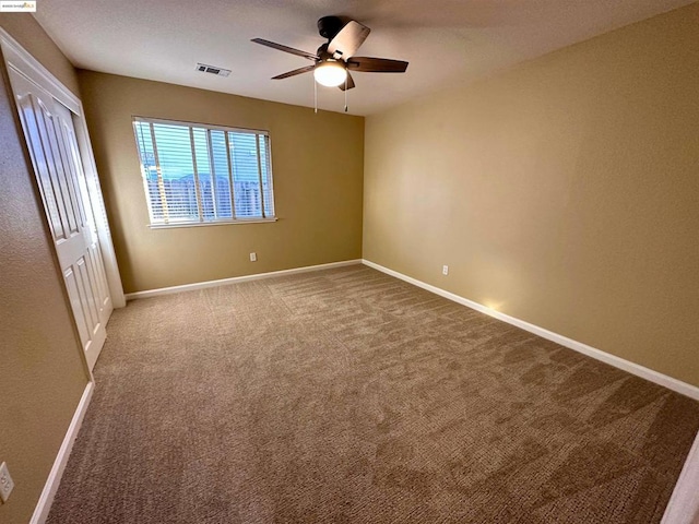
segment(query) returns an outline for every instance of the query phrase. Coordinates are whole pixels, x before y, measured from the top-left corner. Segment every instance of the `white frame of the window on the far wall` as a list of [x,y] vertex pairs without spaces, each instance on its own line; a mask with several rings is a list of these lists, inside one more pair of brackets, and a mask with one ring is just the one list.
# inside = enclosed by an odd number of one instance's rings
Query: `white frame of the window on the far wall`
[[[257,146],[257,153],[258,153],[258,158],[257,158],[257,164],[258,164],[258,175],[259,175],[259,188],[260,188],[260,200],[261,200],[261,210],[262,210],[262,215],[263,216],[250,216],[250,217],[233,217],[233,218],[216,218],[216,219],[206,219],[203,213],[203,210],[201,207],[201,205],[198,203],[198,213],[199,213],[199,219],[198,221],[177,221],[177,222],[171,222],[171,223],[167,223],[167,222],[155,222],[154,221],[154,213],[153,213],[153,202],[151,201],[150,198],[150,192],[149,192],[149,180],[147,180],[147,174],[146,174],[146,169],[143,165],[142,162],[142,157],[141,157],[141,145],[139,144],[139,132],[137,130],[137,123],[147,123],[151,126],[151,136],[153,140],[153,147],[154,151],[157,150],[157,146],[155,144],[155,135],[153,133],[153,124],[164,124],[164,126],[180,126],[183,128],[187,128],[190,132],[190,136],[192,135],[192,131],[193,129],[205,129],[205,130],[212,130],[212,131],[223,131],[226,136],[226,143],[228,143],[228,132],[238,132],[238,133],[245,133],[245,134],[254,134],[256,136],[256,144],[259,144],[259,136],[264,136],[264,151],[259,147],[259,145]],[[270,136],[270,132],[268,130],[262,130],[262,129],[250,129],[250,128],[239,128],[239,127],[230,127],[230,126],[220,126],[220,124],[212,124],[212,123],[203,123],[203,122],[189,122],[186,120],[169,120],[169,119],[164,119],[164,118],[153,118],[153,117],[143,117],[140,115],[133,115],[131,117],[131,129],[133,132],[133,138],[134,138],[134,142],[135,142],[135,147],[137,147],[137,157],[139,160],[139,166],[141,169],[141,179],[143,182],[143,196],[145,198],[145,203],[149,210],[149,227],[151,229],[170,229],[170,228],[179,228],[179,227],[201,227],[201,226],[223,226],[223,225],[232,225],[232,224],[260,224],[260,223],[272,223],[272,222],[277,222],[279,217],[276,216],[276,203],[274,202],[274,176],[273,176],[273,169],[272,169],[272,139]],[[209,152],[211,154],[211,152]],[[192,150],[191,152],[192,154],[192,164],[196,165],[196,158],[194,158],[194,152]],[[262,156],[264,155],[264,164],[266,165],[266,171],[268,171],[268,178],[269,178],[269,182],[268,182],[268,190],[264,190],[264,183],[262,181],[262,177],[263,177],[263,172],[262,172]],[[161,170],[161,163],[157,159],[157,153],[155,153],[155,157],[156,157],[156,168],[159,171]],[[227,163],[230,166],[230,163],[233,160],[233,156],[230,155],[230,152],[228,151],[227,153]],[[194,167],[194,169],[197,169]],[[161,176],[162,177],[162,176]],[[198,176],[196,177],[196,179],[198,179]],[[230,178],[230,182],[234,182],[235,179],[233,178],[233,171],[232,171],[232,178]],[[274,211],[273,215],[270,216],[264,216],[265,215],[265,200],[264,200],[264,193],[268,193],[271,198],[272,201],[272,207]],[[234,198],[234,188],[230,188],[230,209],[232,209],[232,213],[235,213],[235,198]]]

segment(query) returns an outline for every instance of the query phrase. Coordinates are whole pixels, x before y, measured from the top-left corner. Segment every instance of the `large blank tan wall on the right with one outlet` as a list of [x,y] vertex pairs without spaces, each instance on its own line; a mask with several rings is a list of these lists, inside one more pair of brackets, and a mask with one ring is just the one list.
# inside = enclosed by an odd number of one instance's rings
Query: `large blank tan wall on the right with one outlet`
[[365,259],[699,385],[698,3],[368,117],[365,158]]

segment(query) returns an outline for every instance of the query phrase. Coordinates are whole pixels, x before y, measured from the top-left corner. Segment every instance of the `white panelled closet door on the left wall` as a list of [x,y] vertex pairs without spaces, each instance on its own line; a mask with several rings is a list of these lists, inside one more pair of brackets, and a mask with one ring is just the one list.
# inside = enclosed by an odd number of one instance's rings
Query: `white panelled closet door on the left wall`
[[71,111],[10,69],[24,135],[73,315],[92,369],[112,311]]

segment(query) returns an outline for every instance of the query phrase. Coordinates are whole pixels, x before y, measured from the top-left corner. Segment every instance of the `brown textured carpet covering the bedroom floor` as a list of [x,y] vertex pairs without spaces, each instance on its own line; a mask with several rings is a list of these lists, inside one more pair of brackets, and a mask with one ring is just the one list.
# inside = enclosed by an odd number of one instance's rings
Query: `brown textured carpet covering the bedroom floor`
[[50,524],[656,523],[699,429],[699,403],[359,265],[108,332]]

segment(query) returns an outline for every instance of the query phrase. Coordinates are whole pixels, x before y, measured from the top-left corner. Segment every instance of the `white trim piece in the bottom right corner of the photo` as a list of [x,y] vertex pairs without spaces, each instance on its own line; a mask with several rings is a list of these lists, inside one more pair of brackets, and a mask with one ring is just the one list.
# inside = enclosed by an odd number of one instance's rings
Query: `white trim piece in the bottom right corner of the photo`
[[699,522],[699,432],[689,450],[673,496],[660,524],[697,524]]

